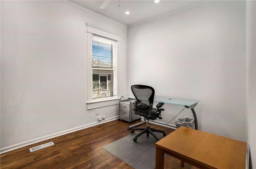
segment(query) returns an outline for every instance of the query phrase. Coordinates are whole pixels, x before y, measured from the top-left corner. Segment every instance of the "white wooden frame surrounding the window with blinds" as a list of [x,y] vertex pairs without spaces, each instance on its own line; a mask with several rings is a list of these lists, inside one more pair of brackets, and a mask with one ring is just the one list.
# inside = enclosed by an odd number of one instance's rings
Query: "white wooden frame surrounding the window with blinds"
[[[97,103],[97,102],[106,102],[106,101],[112,101],[112,100],[118,100],[118,96],[117,96],[117,77],[118,77],[118,65],[117,65],[117,59],[118,57],[120,57],[120,55],[118,55],[120,52],[120,43],[121,43],[121,37],[120,35],[118,35],[117,33],[114,33],[112,31],[108,31],[106,29],[103,28],[99,28],[97,26],[93,26],[91,24],[86,24],[87,26],[87,104],[88,107],[87,109],[91,109],[89,108],[89,105],[92,103]],[[94,99],[92,100],[92,34],[95,35],[99,35],[102,37],[106,37],[108,39],[113,39],[117,41],[117,50],[116,50],[116,58],[113,60],[115,65],[115,69],[114,69],[114,93],[116,94],[116,96],[112,96],[112,97],[107,97],[107,98],[99,98],[99,99]],[[99,77],[100,78],[100,77]],[[99,79],[100,80],[100,79]],[[114,105],[114,102],[110,102],[110,105]],[[116,104],[116,103],[115,103]],[[104,103],[104,106],[110,106],[106,103]],[[98,108],[98,107],[102,107],[102,106],[90,106],[93,108]]]

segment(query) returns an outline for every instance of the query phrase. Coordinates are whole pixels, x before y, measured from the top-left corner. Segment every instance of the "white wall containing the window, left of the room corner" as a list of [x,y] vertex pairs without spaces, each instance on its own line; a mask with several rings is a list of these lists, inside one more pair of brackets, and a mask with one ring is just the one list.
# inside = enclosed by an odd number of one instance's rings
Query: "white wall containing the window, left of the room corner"
[[[122,35],[125,95],[127,26],[60,1],[1,1],[1,147],[97,121],[86,108],[86,23]],[[118,106],[99,115],[113,118]]]

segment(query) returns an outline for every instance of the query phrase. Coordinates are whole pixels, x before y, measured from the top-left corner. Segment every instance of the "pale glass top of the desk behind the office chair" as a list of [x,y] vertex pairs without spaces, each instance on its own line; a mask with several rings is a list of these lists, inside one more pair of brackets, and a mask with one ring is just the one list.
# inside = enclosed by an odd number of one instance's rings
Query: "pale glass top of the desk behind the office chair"
[[[135,99],[134,96],[124,96],[130,99]],[[180,106],[191,106],[193,104],[196,104],[200,102],[201,100],[191,100],[191,99],[184,99],[184,98],[172,98],[169,99],[165,96],[154,96],[154,102],[162,102],[162,103],[168,103],[168,104],[176,104]]]

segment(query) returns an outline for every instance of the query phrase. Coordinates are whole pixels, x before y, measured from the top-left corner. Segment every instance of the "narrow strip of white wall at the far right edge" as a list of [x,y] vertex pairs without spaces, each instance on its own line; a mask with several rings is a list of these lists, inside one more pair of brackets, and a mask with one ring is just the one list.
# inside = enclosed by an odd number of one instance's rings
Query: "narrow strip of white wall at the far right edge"
[[253,169],[256,168],[256,1],[246,2],[246,116]]

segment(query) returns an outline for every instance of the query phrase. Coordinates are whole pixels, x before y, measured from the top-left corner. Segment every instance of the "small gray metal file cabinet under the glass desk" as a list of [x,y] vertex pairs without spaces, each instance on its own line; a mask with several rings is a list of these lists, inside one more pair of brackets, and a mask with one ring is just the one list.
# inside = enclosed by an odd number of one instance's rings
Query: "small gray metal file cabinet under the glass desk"
[[132,110],[134,100],[130,100],[128,98],[123,98],[126,100],[122,100],[123,97],[119,99],[119,118],[118,120],[124,120],[131,124],[134,120],[141,120],[140,116],[135,114]]

